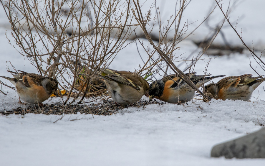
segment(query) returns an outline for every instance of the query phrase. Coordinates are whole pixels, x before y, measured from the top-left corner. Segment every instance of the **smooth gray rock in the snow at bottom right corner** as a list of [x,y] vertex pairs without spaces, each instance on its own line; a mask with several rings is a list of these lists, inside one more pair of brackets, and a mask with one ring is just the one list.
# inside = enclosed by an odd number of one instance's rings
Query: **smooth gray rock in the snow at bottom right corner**
[[211,157],[265,158],[265,128],[213,147]]

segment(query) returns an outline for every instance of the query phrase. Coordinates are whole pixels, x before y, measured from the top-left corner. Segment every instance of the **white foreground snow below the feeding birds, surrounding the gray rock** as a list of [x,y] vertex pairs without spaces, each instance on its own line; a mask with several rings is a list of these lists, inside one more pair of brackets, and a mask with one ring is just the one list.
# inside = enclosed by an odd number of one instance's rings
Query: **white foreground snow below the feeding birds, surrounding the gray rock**
[[65,115],[56,123],[61,116],[0,116],[1,142],[5,142],[0,152],[6,159],[0,161],[1,165],[15,161],[24,165],[40,161],[41,165],[259,165],[264,160],[242,163],[209,155],[214,144],[260,129],[257,117],[265,119],[264,104],[216,100],[188,107],[153,104],[145,109],[129,107],[112,116]]

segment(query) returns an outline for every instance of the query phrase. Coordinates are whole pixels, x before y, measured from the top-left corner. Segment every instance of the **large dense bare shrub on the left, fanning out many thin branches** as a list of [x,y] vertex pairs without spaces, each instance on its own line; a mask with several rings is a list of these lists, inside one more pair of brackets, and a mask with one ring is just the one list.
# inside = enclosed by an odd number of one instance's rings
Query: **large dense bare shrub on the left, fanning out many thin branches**
[[89,66],[84,73],[82,99],[98,69],[106,68],[117,52],[132,42],[127,39],[137,27],[131,24],[130,1],[1,2],[20,49],[17,51],[40,75],[59,78],[61,88],[70,95],[79,77],[77,62],[82,60],[83,65]]

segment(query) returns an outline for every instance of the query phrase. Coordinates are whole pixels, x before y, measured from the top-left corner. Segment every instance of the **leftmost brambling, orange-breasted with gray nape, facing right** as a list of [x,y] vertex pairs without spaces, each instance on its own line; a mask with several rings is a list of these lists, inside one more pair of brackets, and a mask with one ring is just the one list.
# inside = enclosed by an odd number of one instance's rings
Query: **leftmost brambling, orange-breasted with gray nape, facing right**
[[1,77],[9,80],[15,85],[16,92],[19,95],[19,103],[22,103],[20,98],[27,103],[42,103],[47,100],[51,94],[56,93],[58,88],[56,79],[20,70],[18,71],[19,72],[8,71],[12,73],[14,78]]

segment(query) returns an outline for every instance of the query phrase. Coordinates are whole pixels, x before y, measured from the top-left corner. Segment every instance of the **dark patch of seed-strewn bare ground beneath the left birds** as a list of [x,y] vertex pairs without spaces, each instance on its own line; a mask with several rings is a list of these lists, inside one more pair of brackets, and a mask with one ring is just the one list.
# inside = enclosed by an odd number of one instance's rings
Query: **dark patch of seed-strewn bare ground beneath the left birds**
[[[164,102],[158,101],[138,101],[137,103],[133,104],[133,107],[144,107],[149,104],[157,103],[159,105],[165,104]],[[116,105],[114,101],[103,100],[103,103],[100,104],[90,104],[89,106],[85,104],[71,104],[71,105],[63,105],[62,103],[55,103],[55,104],[44,104],[42,107],[38,105],[29,105],[27,108],[16,108],[9,111],[1,111],[2,115],[9,115],[9,114],[27,114],[27,113],[34,113],[34,114],[45,114],[45,115],[62,115],[64,114],[77,114],[80,112],[81,114],[94,114],[94,115],[112,115],[117,114],[119,110],[124,108],[132,107],[130,105],[123,106],[123,105]]]

